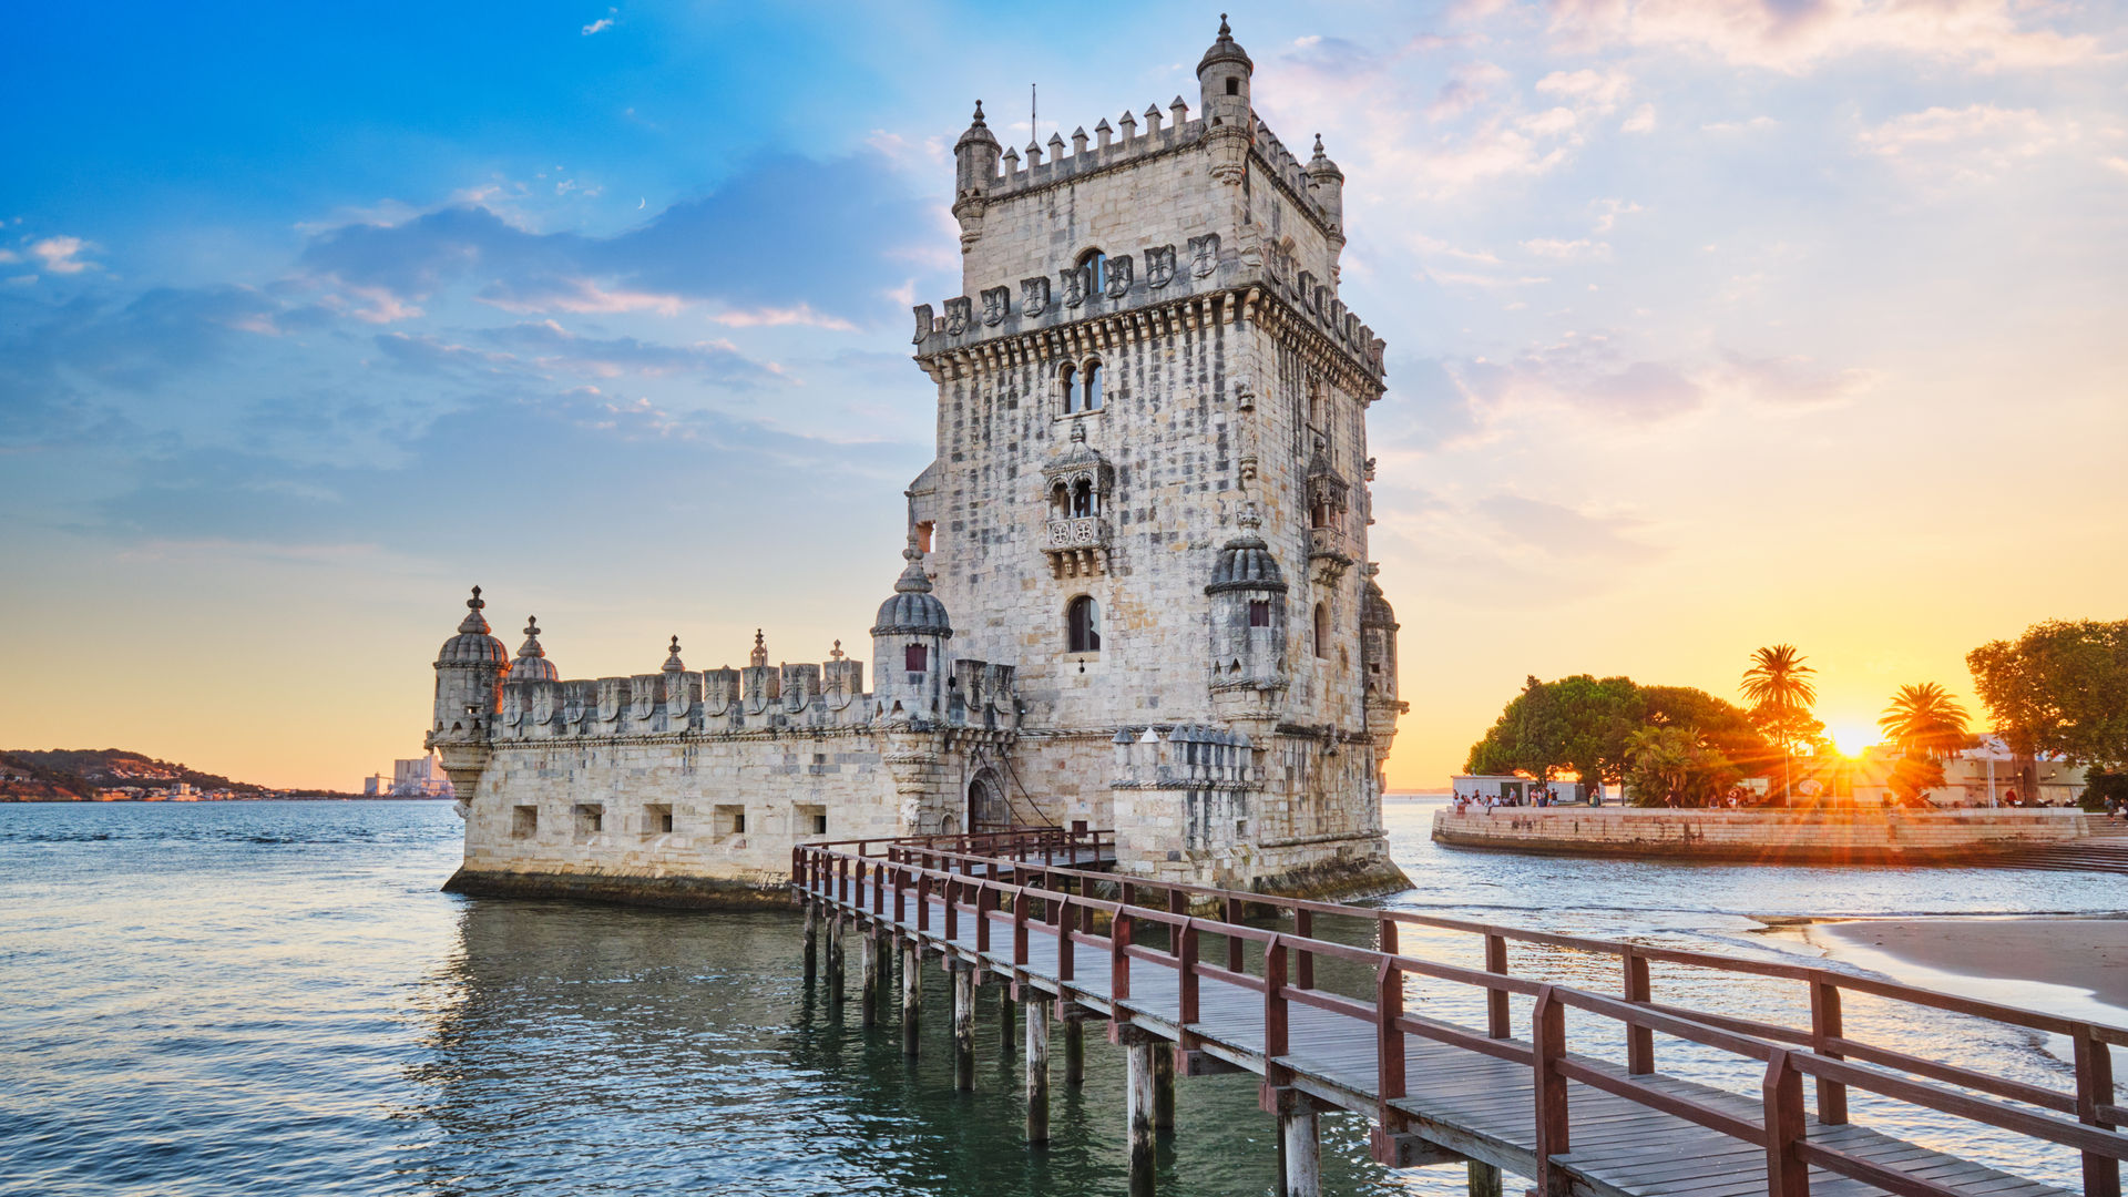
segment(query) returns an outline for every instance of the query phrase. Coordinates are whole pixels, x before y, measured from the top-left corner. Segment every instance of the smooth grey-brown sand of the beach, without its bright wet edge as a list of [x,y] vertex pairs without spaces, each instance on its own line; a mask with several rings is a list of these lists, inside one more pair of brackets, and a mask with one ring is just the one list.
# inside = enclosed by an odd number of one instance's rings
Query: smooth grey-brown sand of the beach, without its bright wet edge
[[2090,990],[2128,1007],[2128,918],[1864,918],[1819,922],[1811,937],[1992,980]]

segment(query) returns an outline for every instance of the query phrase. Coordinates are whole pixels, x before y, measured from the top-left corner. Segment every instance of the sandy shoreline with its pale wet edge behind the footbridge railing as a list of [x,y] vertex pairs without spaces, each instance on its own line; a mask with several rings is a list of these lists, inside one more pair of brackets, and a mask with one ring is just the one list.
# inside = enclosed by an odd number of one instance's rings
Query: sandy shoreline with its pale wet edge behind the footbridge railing
[[1828,956],[1988,1001],[2128,1024],[2128,914],[1811,920]]

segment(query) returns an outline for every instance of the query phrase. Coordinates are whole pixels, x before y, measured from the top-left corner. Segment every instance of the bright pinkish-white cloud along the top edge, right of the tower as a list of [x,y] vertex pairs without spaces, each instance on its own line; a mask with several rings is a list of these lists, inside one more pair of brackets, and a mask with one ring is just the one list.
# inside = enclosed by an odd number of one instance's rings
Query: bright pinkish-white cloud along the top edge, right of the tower
[[2022,0],[1556,0],[1547,32],[1566,51],[1628,45],[1783,72],[1849,55],[1981,70],[2098,58],[2096,38],[2043,23],[2056,11]]

